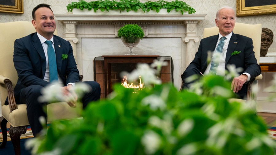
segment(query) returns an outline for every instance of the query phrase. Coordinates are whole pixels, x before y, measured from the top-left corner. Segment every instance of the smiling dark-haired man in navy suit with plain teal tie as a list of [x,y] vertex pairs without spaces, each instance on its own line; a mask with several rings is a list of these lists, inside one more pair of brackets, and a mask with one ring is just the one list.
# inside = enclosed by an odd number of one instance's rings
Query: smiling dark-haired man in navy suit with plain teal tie
[[[36,33],[17,39],[14,42],[13,62],[18,74],[18,81],[14,88],[16,103],[27,104],[28,120],[34,136],[42,130],[39,117],[47,119],[44,108],[47,103],[38,101],[43,87],[52,85],[49,71],[48,48],[53,48],[56,61],[56,81],[62,83],[64,95],[71,95],[75,99],[67,101],[71,107],[76,106],[77,96],[72,92],[72,87],[79,82],[79,71],[73,56],[71,44],[53,35],[56,22],[52,9],[48,4],[39,4],[33,9],[33,26]],[[49,42],[46,44],[46,41]],[[52,49],[51,48],[51,49]],[[63,58],[62,56],[67,56]],[[91,91],[82,98],[83,108],[91,101],[100,98],[101,88],[97,82],[85,81],[91,86]]]

